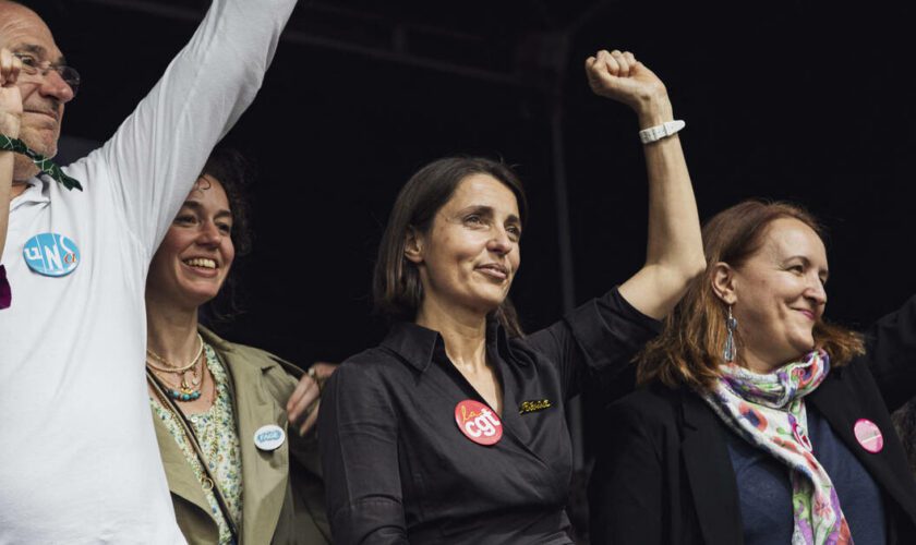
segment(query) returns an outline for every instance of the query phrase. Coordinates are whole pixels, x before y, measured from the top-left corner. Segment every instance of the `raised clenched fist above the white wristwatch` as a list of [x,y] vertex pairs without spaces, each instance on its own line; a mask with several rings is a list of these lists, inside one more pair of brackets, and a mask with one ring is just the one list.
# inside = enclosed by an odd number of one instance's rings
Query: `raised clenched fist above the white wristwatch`
[[598,51],[586,59],[586,75],[595,95],[629,106],[640,118],[671,109],[665,84],[629,51]]

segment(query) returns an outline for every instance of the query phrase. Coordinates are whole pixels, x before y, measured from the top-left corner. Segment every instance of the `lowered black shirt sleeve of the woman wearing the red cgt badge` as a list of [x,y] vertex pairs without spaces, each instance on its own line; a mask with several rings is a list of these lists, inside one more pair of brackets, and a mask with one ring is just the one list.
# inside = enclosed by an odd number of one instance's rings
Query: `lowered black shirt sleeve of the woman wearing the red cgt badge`
[[327,513],[334,543],[407,543],[398,464],[398,419],[364,362],[328,379],[318,413]]

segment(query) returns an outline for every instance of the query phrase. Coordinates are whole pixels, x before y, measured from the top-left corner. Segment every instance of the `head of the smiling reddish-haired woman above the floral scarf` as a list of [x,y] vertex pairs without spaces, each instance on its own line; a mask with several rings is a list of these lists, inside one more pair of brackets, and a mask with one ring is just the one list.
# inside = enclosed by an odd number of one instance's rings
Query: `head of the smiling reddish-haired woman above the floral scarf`
[[[642,354],[639,378],[711,387],[731,335],[732,361],[769,373],[820,347],[833,366],[863,351],[860,336],[821,319],[827,305],[822,228],[803,208],[748,201],[703,226],[709,266],[668,327]],[[727,318],[735,318],[728,327]],[[730,332],[731,329],[731,332]]]

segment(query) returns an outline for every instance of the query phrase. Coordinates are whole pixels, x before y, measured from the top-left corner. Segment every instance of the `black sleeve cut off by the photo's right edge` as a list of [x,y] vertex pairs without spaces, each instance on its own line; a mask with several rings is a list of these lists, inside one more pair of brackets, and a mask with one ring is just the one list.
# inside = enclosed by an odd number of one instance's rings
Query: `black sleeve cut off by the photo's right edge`
[[916,396],[916,296],[875,323],[865,338],[868,366],[888,410]]

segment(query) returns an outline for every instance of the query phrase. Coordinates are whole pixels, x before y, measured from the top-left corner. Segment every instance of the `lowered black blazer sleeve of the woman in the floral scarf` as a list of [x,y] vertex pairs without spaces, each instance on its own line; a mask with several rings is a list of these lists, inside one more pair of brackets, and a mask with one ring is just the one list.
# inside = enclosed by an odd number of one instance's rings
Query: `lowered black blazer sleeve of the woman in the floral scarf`
[[661,544],[664,532],[660,450],[638,408],[607,411],[613,440],[599,455],[589,483],[591,543]]

